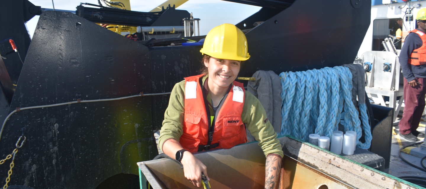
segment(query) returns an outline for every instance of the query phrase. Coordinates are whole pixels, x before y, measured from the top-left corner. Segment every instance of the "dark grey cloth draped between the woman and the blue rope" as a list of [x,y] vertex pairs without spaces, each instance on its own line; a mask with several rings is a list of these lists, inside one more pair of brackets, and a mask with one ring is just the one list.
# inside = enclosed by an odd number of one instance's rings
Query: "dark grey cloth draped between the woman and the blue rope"
[[[253,74],[256,80],[248,81],[247,91],[259,99],[266,111],[266,116],[276,133],[281,132],[281,80],[273,71],[259,70]],[[249,142],[254,141],[254,137],[247,131]]]

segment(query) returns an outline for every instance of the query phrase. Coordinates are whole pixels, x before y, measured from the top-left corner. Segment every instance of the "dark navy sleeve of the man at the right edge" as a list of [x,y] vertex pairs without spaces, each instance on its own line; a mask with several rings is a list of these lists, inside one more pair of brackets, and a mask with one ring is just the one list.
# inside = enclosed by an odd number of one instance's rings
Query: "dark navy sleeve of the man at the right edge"
[[411,53],[414,51],[414,49],[417,49],[416,41],[418,40],[421,41],[421,38],[418,36],[418,34],[410,33],[406,37],[404,45],[399,55],[402,73],[408,82],[415,79],[414,74],[411,70],[411,64],[408,63],[408,58],[411,56]]

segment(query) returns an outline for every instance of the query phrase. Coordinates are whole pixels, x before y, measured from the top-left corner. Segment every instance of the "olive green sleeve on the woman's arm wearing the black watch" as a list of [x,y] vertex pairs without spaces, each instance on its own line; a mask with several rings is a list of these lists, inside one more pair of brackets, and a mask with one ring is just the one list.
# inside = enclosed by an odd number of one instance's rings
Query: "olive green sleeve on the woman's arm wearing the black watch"
[[176,83],[170,94],[169,106],[164,112],[163,126],[158,138],[158,146],[161,150],[163,150],[163,144],[166,140],[173,138],[179,141],[183,133],[184,89],[185,82],[181,81]]

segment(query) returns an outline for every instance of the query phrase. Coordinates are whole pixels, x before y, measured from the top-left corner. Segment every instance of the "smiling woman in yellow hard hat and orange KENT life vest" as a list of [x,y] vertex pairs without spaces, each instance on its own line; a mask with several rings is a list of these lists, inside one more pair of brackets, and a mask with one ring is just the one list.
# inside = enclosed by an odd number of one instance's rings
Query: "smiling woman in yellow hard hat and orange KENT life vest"
[[191,152],[245,143],[245,127],[267,156],[265,189],[278,185],[283,152],[276,133],[259,100],[234,81],[242,61],[250,58],[247,51],[247,39],[236,26],[213,28],[200,51],[202,74],[176,83],[170,94],[158,144],[183,164],[185,177],[198,187],[201,172],[208,178],[207,168]]

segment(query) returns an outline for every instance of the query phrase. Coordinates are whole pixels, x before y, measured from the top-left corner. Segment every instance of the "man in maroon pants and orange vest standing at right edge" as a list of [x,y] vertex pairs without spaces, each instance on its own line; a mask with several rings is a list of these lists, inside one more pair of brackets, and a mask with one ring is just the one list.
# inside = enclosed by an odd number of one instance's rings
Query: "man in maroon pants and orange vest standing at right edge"
[[399,61],[404,75],[404,113],[399,123],[400,135],[410,141],[424,137],[417,127],[425,107],[426,95],[426,9],[417,12],[417,29],[409,31]]

